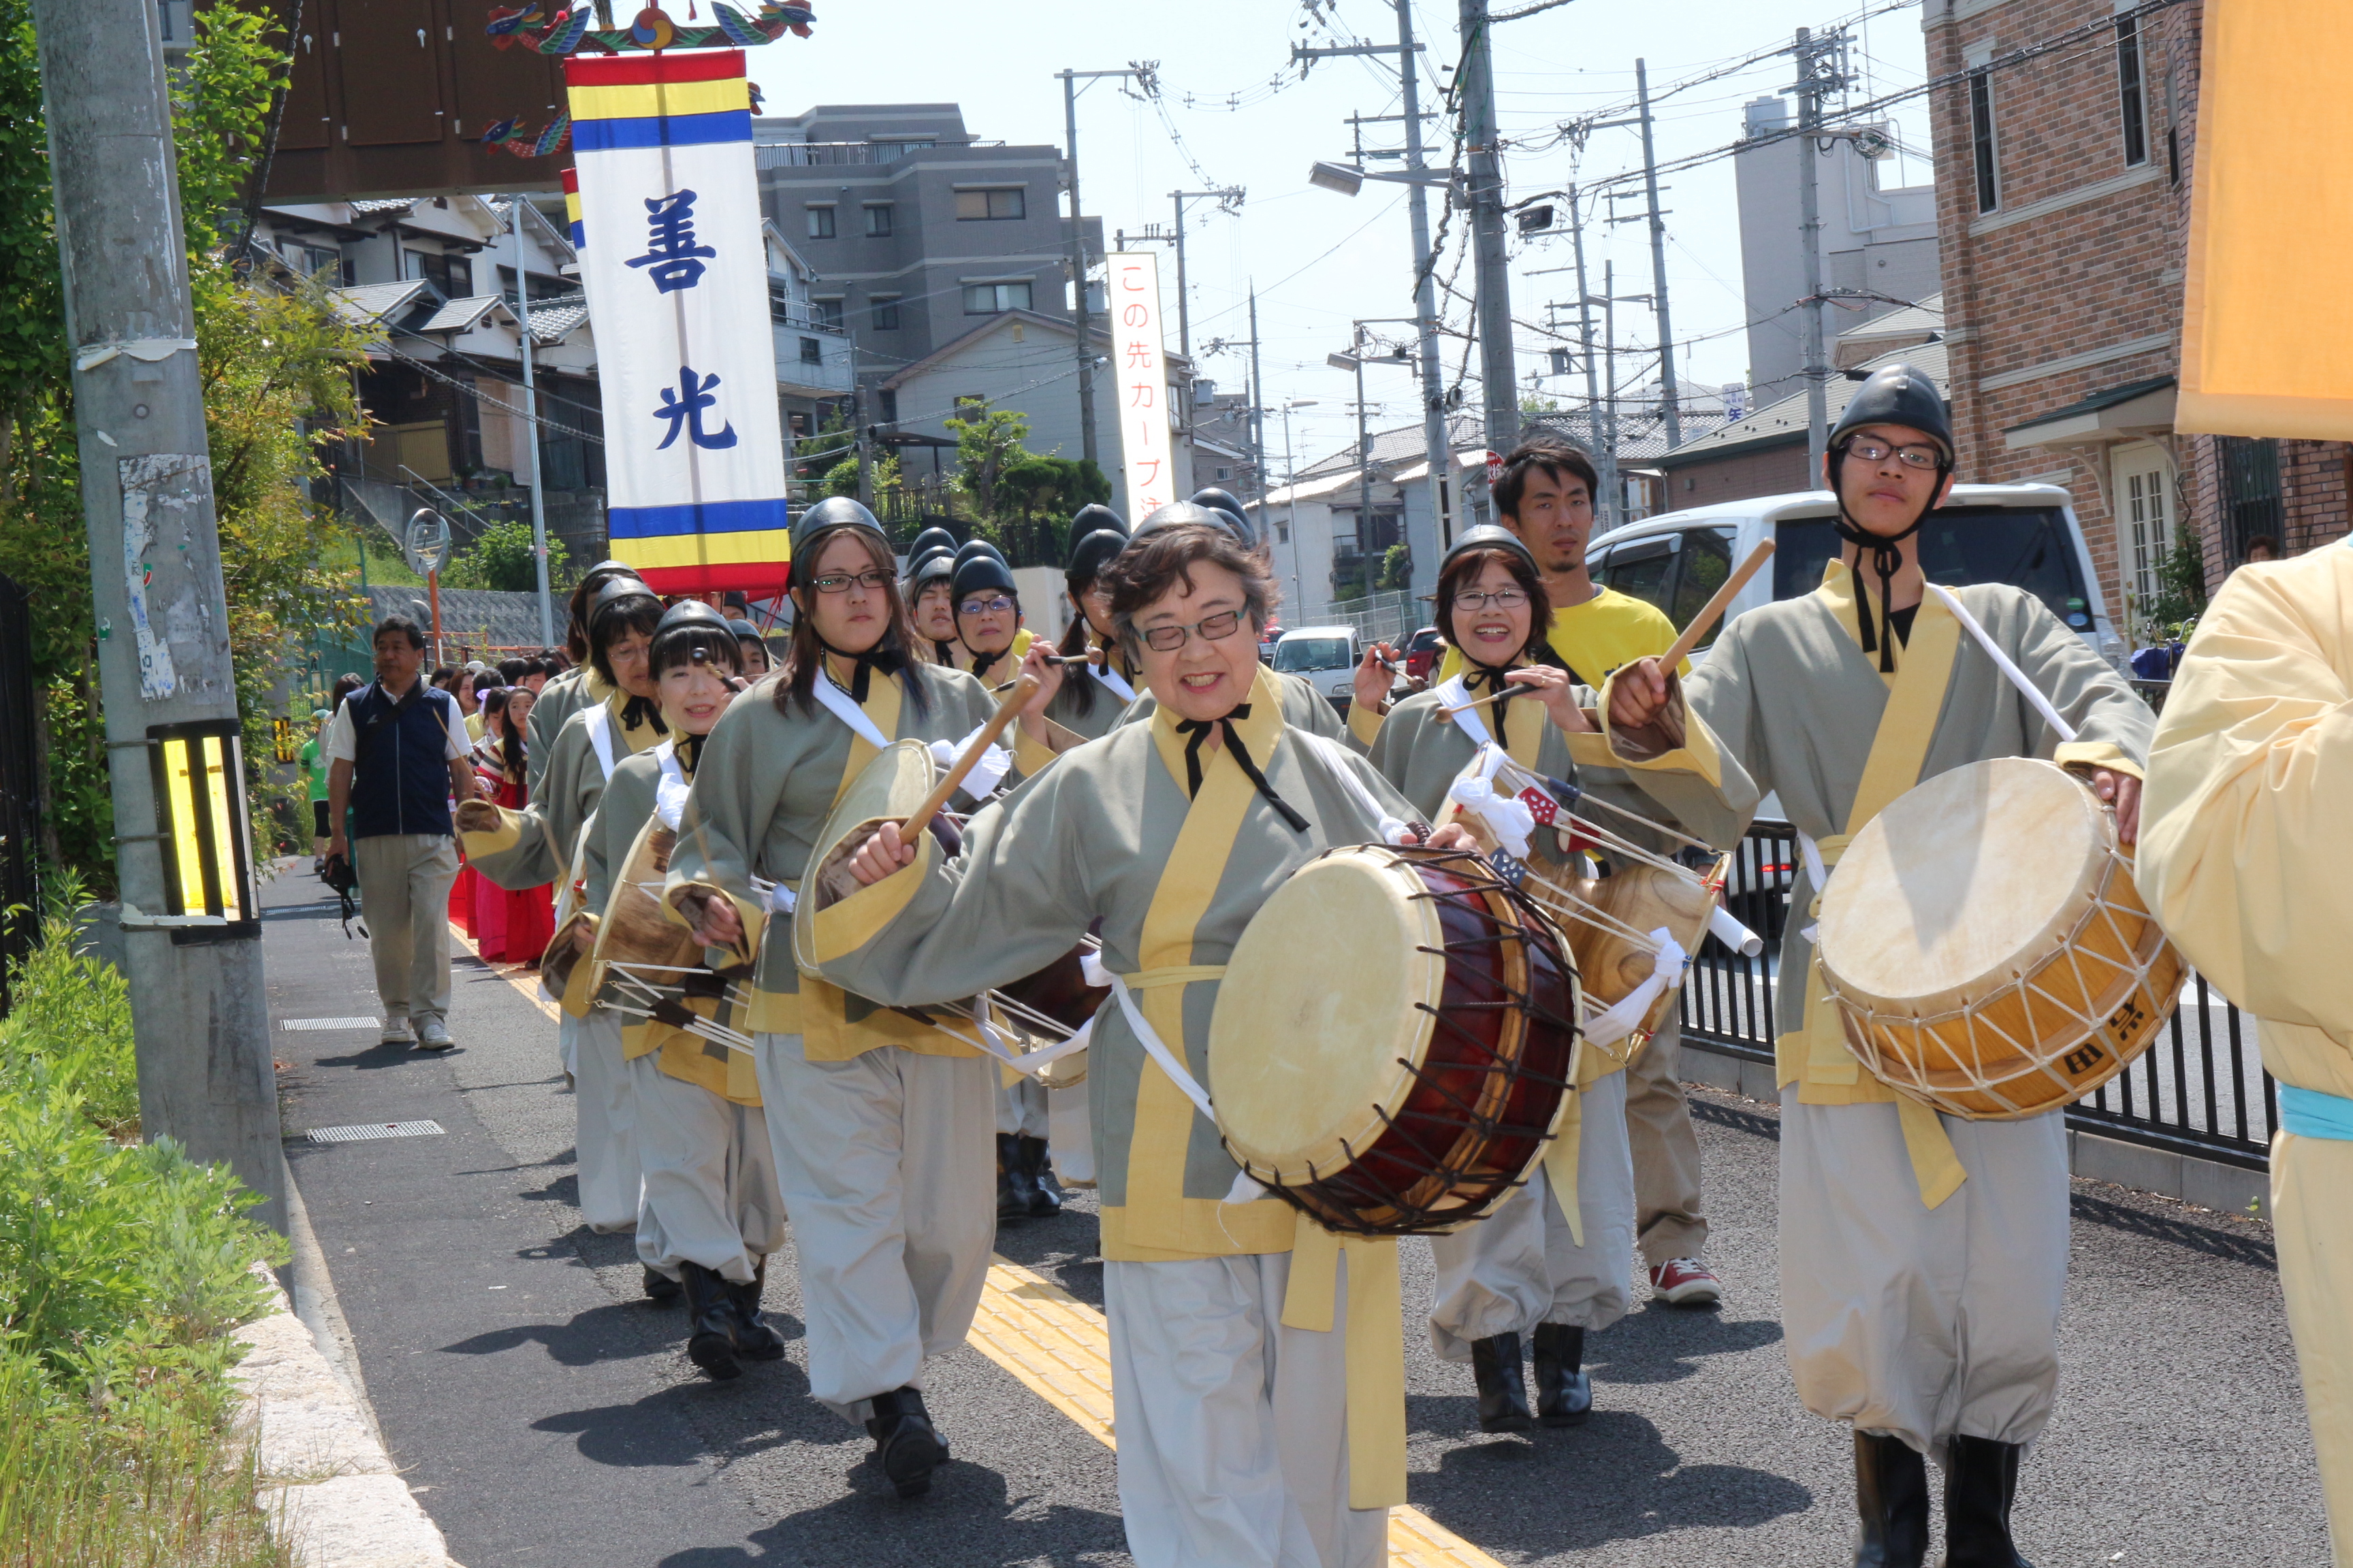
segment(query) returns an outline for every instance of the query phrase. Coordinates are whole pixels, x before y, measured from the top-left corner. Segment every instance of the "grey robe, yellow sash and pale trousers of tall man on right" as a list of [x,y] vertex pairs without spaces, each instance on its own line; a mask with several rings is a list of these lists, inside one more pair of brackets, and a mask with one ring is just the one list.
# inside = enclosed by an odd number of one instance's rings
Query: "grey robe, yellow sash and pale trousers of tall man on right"
[[[1880,675],[1835,562],[1817,592],[1727,625],[1692,675],[1692,710],[1831,865],[1887,802],[1969,762],[2139,773],[2148,755],[2148,708],[2040,599],[1998,583],[1958,597],[2078,741],[2059,743],[1934,595]],[[2059,1385],[2064,1121],[1962,1121],[1864,1072],[1805,938],[1814,905],[1800,870],[1779,1001],[1781,1324],[1798,1396],[1929,1455],[1955,1434],[2028,1443]]]

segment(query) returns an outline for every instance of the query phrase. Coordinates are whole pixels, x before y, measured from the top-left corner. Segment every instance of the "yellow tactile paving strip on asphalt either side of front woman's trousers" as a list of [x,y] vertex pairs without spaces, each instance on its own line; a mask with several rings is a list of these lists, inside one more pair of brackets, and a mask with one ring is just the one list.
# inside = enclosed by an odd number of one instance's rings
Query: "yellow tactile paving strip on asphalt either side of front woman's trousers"
[[[1106,1446],[1111,1328],[1104,1314],[1019,1262],[995,1258],[972,1314],[972,1342]],[[1504,1568],[1414,1507],[1388,1509],[1391,1568]]]

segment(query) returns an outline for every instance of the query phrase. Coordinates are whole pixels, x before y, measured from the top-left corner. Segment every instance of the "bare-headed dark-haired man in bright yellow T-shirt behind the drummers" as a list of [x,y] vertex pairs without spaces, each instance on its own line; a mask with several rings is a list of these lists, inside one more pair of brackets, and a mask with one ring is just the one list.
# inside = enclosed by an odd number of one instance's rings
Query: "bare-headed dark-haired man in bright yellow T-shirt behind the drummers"
[[[1553,604],[1546,642],[1572,679],[1595,684],[1612,670],[1652,658],[1675,644],[1675,623],[1645,599],[1602,588],[1593,581],[1586,548],[1593,541],[1593,498],[1600,475],[1593,458],[1555,435],[1534,435],[1504,458],[1494,477],[1494,510],[1506,529],[1518,534],[1544,576]],[[1395,658],[1391,649],[1377,649]],[[1447,646],[1435,679],[1464,670],[1459,646]],[[1689,665],[1685,665],[1689,672]],[[1372,661],[1358,672],[1358,708],[1367,717],[1388,693],[1388,670]],[[1351,712],[1351,719],[1355,715]],[[1649,1044],[1626,1067],[1626,1138],[1633,1150],[1635,1244],[1649,1269],[1654,1300],[1675,1307],[1713,1307],[1722,1284],[1701,1262],[1708,1244],[1708,1218],[1699,1190],[1699,1133],[1692,1128],[1692,1105],[1682,1093],[1682,1013],[1668,1013]]]

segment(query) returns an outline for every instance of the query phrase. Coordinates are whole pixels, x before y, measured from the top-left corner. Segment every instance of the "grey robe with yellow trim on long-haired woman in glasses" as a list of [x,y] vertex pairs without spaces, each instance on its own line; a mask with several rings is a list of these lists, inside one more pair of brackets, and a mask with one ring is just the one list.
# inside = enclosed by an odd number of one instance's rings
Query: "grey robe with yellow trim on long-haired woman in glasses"
[[[748,1023],[753,1032],[800,1034],[809,1060],[847,1060],[875,1046],[974,1056],[972,1046],[929,1023],[802,976],[793,961],[791,919],[772,919],[767,903],[753,893],[753,877],[800,886],[833,802],[875,757],[864,736],[821,705],[802,712],[795,703],[791,712],[779,712],[784,679],[781,672],[769,675],[739,696],[704,738],[664,900],[675,907],[680,896],[701,891],[734,903],[744,922],[744,947],[708,957],[713,966],[758,964]],[[901,679],[922,684],[920,712],[906,701]],[[995,701],[981,682],[920,661],[911,661],[899,677],[878,672],[866,693],[866,717],[889,741],[962,741],[991,712]],[[1026,733],[1012,733],[1016,776],[1052,762],[1052,752]],[[1075,940],[1064,940],[1054,957]],[[1033,964],[1038,966],[1042,961]]]

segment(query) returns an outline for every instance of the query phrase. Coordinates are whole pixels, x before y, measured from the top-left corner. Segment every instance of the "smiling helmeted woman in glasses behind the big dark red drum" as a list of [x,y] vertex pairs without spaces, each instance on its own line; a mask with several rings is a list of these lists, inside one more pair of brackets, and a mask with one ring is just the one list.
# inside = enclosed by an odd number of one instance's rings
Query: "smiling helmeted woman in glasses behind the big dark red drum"
[[[1687,722],[1680,745],[1654,736],[1649,762],[1621,766],[1602,741],[1598,698],[1560,665],[1541,630],[1548,625],[1551,595],[1529,548],[1494,524],[1466,529],[1438,569],[1438,628],[1457,651],[1459,675],[1386,715],[1372,766],[1424,818],[1442,820],[1449,788],[1475,771],[1492,743],[1537,776],[1734,844],[1755,809],[1755,790],[1739,764],[1720,757],[1704,724]],[[1607,820],[1612,830],[1642,837],[1645,846],[1673,849],[1619,816]],[[1527,832],[1551,865],[1567,860],[1553,827],[1529,823]],[[1579,1095],[1562,1117],[1558,1159],[1529,1171],[1527,1185],[1478,1225],[1431,1239],[1438,1260],[1431,1345],[1442,1361],[1471,1363],[1482,1432],[1527,1432],[1537,1420],[1574,1427],[1593,1410],[1586,1335],[1609,1328],[1631,1307],[1635,1190],[1626,1046],[1624,1039],[1609,1048],[1588,1041],[1581,1051]],[[1555,1168],[1567,1178],[1565,1190],[1548,1180]],[[1534,1415],[1520,1371],[1522,1340],[1537,1363]]]

